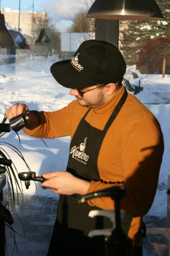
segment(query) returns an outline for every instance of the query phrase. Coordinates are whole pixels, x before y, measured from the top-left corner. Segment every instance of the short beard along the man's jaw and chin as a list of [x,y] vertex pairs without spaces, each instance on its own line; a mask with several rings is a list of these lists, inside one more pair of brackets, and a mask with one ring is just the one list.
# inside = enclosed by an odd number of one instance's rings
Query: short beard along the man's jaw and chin
[[98,96],[96,96],[96,98],[88,100],[88,99],[83,99],[83,97],[80,96],[76,96],[77,98],[77,102],[82,106],[82,107],[87,107],[87,108],[97,108],[100,107],[101,105],[103,105],[104,103],[106,103],[106,101],[104,100],[104,95],[103,95],[103,91],[100,90]]

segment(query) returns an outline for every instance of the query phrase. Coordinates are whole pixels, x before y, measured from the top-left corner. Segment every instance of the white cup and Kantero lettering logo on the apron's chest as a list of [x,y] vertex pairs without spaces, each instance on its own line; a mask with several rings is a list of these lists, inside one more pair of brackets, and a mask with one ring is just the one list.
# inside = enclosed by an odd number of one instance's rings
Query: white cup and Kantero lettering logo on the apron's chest
[[89,156],[86,153],[84,153],[86,149],[86,140],[87,137],[84,139],[84,142],[80,143],[79,147],[74,146],[70,149],[70,154],[72,154],[72,157],[85,165],[87,165],[87,161],[89,159]]

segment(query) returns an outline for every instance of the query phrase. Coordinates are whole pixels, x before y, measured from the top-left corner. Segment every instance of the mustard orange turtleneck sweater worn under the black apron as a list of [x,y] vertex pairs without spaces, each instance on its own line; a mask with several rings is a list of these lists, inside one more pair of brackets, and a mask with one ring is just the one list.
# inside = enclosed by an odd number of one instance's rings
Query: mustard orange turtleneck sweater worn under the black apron
[[[102,130],[124,90],[122,86],[110,101],[91,109],[86,121]],[[24,130],[24,133],[36,138],[54,139],[67,135],[72,138],[87,110],[73,101],[61,110],[41,111],[40,125],[31,131]],[[145,215],[153,203],[163,152],[164,140],[159,122],[135,96],[128,93],[100,149],[97,161],[100,180],[91,180],[88,193],[124,182],[127,192],[121,201],[121,209],[128,214]],[[113,209],[109,197],[91,199],[88,203],[106,210]],[[133,238],[134,245],[138,242],[140,226],[141,217],[133,218],[129,237]]]

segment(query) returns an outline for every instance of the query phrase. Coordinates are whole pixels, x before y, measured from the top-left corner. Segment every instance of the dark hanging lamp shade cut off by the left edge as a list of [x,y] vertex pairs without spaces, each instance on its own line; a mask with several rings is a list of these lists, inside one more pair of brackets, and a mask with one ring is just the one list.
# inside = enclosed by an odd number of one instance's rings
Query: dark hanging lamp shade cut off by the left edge
[[14,36],[5,26],[4,15],[0,13],[0,46],[1,47],[18,47]]

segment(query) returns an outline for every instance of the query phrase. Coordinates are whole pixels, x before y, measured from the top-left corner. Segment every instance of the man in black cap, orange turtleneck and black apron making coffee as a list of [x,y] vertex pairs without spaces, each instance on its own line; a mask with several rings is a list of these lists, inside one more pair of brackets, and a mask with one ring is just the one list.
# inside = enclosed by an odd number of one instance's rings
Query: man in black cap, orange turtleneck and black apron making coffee
[[[67,171],[44,173],[43,189],[60,194],[57,220],[48,255],[104,255],[103,238],[90,230],[110,228],[108,218],[90,218],[94,209],[112,210],[110,197],[80,204],[80,195],[125,186],[121,209],[132,216],[126,227],[135,255],[142,255],[142,216],[152,205],[164,152],[154,115],[122,85],[126,63],[120,51],[104,41],[83,42],[73,59],[51,66],[62,86],[76,100],[54,112],[30,111],[25,104],[9,108],[10,119],[27,111],[23,131],[36,138],[71,135]],[[127,231],[128,230],[128,231]]]

